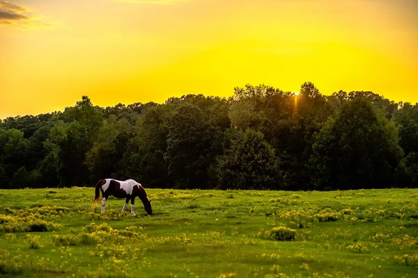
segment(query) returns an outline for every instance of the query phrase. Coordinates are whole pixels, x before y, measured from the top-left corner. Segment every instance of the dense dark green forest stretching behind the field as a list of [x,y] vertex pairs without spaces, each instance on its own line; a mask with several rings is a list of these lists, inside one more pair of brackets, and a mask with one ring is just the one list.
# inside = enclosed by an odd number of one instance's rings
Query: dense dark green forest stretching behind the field
[[102,108],[82,97],[63,112],[0,120],[0,188],[346,190],[418,186],[418,104],[373,92],[299,94],[266,85],[233,97]]

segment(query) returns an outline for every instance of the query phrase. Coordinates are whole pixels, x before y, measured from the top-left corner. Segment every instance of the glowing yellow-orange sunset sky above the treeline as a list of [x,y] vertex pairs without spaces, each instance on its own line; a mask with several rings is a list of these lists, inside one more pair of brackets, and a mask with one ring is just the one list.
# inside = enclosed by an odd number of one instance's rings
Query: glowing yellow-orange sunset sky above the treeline
[[418,101],[417,0],[0,1],[0,118],[235,86]]

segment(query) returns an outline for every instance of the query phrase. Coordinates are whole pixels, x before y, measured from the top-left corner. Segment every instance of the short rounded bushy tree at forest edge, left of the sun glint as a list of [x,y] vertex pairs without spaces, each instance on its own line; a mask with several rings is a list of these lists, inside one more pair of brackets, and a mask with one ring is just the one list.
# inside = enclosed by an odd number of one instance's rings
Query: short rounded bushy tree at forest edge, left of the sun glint
[[223,189],[284,189],[274,149],[263,134],[247,129],[233,140],[219,159],[219,185]]

